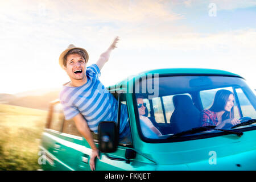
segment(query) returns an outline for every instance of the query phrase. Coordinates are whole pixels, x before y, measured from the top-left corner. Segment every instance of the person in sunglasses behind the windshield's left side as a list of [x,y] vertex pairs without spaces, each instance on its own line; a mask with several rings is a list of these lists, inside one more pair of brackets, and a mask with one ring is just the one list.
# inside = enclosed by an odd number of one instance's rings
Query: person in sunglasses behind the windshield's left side
[[158,138],[162,136],[160,131],[152,124],[150,119],[144,116],[146,103],[144,103],[143,98],[137,98],[138,110],[139,110],[139,120],[141,123],[141,129],[144,137],[147,138]]

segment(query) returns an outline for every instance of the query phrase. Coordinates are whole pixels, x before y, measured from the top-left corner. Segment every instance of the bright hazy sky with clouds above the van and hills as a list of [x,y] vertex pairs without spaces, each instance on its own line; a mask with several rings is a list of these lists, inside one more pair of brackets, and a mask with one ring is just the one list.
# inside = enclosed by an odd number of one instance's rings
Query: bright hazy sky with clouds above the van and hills
[[256,0],[0,0],[0,93],[61,88],[69,44],[96,63],[120,40],[100,80],[113,85],[158,68],[212,68],[256,89]]

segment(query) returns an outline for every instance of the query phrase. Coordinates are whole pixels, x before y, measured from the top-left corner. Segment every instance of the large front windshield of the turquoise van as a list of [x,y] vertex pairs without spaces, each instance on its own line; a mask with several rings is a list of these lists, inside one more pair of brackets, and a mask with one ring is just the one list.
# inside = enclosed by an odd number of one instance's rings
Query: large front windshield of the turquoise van
[[[201,126],[232,130],[233,126],[256,118],[255,93],[240,77],[148,77],[136,82],[134,90],[137,126],[149,139],[166,139]],[[203,133],[210,132],[221,131]],[[191,135],[199,134],[202,133]]]

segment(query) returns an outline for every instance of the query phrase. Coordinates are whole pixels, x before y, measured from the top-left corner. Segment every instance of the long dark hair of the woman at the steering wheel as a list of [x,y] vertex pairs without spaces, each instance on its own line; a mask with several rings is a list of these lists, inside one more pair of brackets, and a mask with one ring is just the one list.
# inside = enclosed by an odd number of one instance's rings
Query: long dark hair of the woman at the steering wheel
[[[224,107],[226,106],[226,102],[228,102],[230,94],[234,95],[229,90],[218,90],[215,94],[213,104],[209,110],[213,112],[219,112],[224,110]],[[229,118],[234,118],[234,106],[230,111],[225,111],[225,113],[222,115],[222,121]]]

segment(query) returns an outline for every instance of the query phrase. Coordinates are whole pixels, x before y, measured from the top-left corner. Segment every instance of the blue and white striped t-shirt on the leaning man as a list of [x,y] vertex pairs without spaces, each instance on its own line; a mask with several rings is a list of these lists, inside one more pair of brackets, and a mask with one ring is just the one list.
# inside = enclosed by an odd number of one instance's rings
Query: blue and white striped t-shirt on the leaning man
[[[90,130],[98,133],[101,121],[117,122],[118,103],[114,96],[106,90],[98,77],[100,69],[96,64],[86,68],[87,82],[82,86],[63,86],[60,92],[60,103],[63,105],[65,119],[71,119],[81,113]],[[128,114],[126,105],[121,105],[119,133],[127,129]]]

